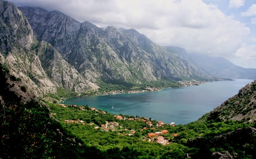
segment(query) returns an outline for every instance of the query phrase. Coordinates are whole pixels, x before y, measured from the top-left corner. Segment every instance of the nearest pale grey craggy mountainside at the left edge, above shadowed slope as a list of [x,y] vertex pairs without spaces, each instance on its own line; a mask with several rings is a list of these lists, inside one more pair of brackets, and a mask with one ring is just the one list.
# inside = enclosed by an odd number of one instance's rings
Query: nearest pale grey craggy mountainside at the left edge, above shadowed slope
[[56,87],[82,92],[98,86],[84,79],[49,43],[38,41],[26,17],[0,0],[0,63],[27,84],[37,96],[56,93]]

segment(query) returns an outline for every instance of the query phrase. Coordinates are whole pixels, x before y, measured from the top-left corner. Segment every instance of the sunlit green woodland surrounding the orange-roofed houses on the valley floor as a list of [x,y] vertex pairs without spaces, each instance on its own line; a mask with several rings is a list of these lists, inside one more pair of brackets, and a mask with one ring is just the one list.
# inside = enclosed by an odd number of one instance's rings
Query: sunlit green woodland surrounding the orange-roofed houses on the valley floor
[[[186,153],[196,158],[200,158],[201,155],[204,155],[205,158],[211,158],[211,154],[216,151],[221,153],[228,151],[232,155],[253,158],[256,151],[254,148],[254,145],[256,145],[255,135],[248,135],[245,141],[234,139],[227,143],[218,144],[224,138],[220,135],[236,131],[239,128],[255,127],[254,123],[245,124],[242,121],[232,120],[213,122],[210,120],[195,121],[175,127],[166,124],[164,127],[156,127],[154,125],[155,129],[143,129],[144,127],[149,128],[149,125],[143,121],[119,120],[110,113],[103,114],[101,110],[99,112],[89,110],[88,106],[83,106],[84,110],[81,110],[82,107],[72,105],[65,108],[49,103],[49,106],[51,113],[56,113],[55,118],[61,123],[63,128],[68,130],[70,135],[76,136],[87,146],[94,146],[102,153],[115,150],[114,152],[119,154],[121,158],[127,158],[126,153],[133,154],[131,156],[133,158],[140,158],[142,156],[145,158],[184,158]],[[126,118],[134,118],[133,116],[120,115]],[[64,123],[64,120],[78,119],[83,120],[86,124]],[[114,127],[112,131],[108,132],[103,131],[101,128],[94,129],[96,126],[100,127],[101,124],[105,124],[105,121],[118,122],[119,127]],[[152,121],[153,124],[156,122],[155,120]],[[170,144],[163,146],[143,140],[144,137],[148,136],[148,133],[164,129],[168,130],[169,133],[162,136],[168,139]],[[133,136],[122,136],[122,134],[130,133],[131,130],[136,131]],[[121,134],[118,135],[118,133]],[[173,133],[178,133],[178,136],[172,136]],[[219,140],[216,140],[217,136],[219,136]],[[198,142],[199,139],[200,142]],[[245,148],[246,143],[247,148]]]

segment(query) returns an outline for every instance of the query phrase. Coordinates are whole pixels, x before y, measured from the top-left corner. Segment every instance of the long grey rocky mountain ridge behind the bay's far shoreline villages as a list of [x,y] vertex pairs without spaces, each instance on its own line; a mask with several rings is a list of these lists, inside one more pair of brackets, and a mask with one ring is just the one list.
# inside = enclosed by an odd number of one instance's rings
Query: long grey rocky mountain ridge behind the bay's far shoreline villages
[[99,28],[39,7],[19,10],[36,36],[90,82],[150,84],[209,76],[189,60],[185,49],[157,45],[134,29]]

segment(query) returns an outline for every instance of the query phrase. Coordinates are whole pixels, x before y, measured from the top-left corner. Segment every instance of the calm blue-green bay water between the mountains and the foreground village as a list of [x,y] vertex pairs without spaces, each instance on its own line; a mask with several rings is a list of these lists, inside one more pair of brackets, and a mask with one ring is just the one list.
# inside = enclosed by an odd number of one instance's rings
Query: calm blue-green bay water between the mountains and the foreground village
[[250,82],[252,80],[248,79],[208,82],[199,86],[165,88],[159,92],[70,98],[62,103],[88,104],[113,114],[138,115],[164,123],[186,124],[212,111]]

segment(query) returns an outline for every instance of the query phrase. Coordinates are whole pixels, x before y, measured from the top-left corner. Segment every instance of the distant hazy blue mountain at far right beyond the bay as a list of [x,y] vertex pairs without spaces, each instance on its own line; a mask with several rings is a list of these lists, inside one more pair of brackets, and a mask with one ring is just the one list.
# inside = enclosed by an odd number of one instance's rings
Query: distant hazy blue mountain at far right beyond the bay
[[223,57],[189,54],[189,57],[209,73],[220,78],[256,79],[256,69],[237,66]]

